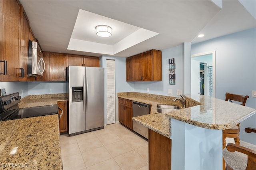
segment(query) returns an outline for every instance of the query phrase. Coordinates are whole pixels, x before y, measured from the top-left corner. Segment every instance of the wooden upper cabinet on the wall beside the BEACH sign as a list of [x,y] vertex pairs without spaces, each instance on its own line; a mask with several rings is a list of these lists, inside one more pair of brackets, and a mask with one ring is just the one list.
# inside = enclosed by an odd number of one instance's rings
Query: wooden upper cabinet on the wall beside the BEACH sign
[[[132,65],[129,58],[126,59],[126,81],[162,80],[162,51],[152,49],[134,55],[132,56]],[[133,79],[129,77],[131,71],[128,68],[132,68]]]

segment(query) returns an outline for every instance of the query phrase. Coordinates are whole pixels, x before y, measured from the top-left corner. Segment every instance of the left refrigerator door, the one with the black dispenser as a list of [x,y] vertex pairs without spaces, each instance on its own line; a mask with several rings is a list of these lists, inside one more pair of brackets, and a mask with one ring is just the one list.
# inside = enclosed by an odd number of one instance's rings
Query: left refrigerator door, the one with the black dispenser
[[[68,91],[69,91],[69,130],[68,133],[82,132],[85,129],[85,105],[84,100],[72,102],[72,87],[84,87],[85,67],[68,67]],[[84,99],[84,97],[83,97]]]

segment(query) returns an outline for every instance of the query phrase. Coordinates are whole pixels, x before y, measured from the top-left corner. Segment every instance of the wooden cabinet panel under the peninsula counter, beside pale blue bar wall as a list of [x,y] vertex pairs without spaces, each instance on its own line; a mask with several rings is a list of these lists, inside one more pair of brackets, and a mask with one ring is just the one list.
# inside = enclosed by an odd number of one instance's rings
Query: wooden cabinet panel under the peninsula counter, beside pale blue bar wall
[[158,132],[148,129],[149,170],[170,170],[171,154],[172,140]]

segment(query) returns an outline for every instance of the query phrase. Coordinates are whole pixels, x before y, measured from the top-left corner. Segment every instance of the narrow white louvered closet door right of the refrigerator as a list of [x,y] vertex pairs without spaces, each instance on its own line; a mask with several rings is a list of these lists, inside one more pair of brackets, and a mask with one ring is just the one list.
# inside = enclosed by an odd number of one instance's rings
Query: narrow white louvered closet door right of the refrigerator
[[107,125],[116,122],[115,111],[115,61],[107,59]]

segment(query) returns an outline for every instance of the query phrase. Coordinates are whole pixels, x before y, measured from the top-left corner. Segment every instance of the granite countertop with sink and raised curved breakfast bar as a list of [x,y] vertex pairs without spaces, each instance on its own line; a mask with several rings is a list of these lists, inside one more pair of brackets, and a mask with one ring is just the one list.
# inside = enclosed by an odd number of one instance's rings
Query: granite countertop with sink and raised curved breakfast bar
[[171,119],[197,127],[223,130],[256,114],[256,110],[250,107],[204,95],[186,95],[187,108],[172,111],[166,115],[158,113],[156,105],[177,105],[181,108],[180,102],[172,101],[174,97],[137,92],[118,93],[118,97],[152,105],[150,115],[134,117],[132,120],[168,138],[171,136]]

